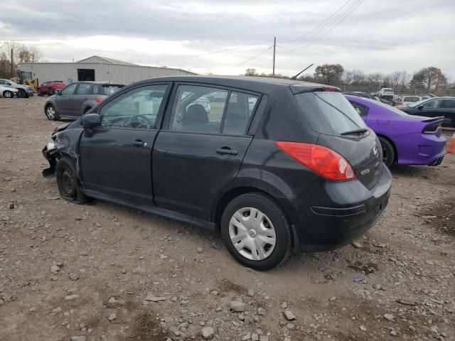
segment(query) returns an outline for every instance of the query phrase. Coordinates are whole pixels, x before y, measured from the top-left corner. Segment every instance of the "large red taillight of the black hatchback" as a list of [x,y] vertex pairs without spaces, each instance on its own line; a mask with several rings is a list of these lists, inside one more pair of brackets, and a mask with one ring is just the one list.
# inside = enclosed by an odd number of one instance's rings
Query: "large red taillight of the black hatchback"
[[336,151],[317,144],[301,142],[275,141],[284,153],[309,168],[314,173],[332,181],[354,180],[352,166]]

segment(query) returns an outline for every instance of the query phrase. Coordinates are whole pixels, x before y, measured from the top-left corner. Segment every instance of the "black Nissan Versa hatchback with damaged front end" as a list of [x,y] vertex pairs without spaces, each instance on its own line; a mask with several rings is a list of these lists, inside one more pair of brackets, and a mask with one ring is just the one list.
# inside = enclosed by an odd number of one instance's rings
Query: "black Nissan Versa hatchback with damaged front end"
[[[210,111],[200,104],[214,98]],[[392,183],[338,88],[256,77],[137,82],[56,129],[43,155],[65,200],[218,230],[258,270],[350,243],[382,215]]]

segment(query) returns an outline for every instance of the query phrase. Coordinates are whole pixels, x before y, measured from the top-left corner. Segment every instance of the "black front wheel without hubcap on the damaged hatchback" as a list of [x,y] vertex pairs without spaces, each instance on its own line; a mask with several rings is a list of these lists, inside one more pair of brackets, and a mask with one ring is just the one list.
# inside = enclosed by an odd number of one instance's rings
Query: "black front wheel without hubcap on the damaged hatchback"
[[90,198],[82,192],[73,160],[60,158],[55,168],[55,177],[57,178],[58,191],[63,199],[78,205],[90,201]]

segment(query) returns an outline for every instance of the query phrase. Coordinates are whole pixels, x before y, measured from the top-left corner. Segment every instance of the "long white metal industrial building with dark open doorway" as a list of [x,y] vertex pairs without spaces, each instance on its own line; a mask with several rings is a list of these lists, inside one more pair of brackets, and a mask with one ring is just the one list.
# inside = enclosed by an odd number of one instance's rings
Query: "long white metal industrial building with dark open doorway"
[[97,55],[75,63],[21,63],[19,68],[25,72],[26,79],[38,79],[40,84],[48,80],[61,80],[66,84],[78,80],[96,80],[129,85],[154,77],[195,75],[186,70],[142,66]]

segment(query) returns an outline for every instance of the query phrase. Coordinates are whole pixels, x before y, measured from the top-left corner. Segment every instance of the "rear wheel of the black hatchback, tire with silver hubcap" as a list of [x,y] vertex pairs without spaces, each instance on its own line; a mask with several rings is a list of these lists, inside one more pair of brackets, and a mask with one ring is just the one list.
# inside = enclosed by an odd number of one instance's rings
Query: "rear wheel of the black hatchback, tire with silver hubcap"
[[235,197],[221,217],[221,235],[242,265],[269,270],[291,253],[291,227],[281,207],[262,193]]

